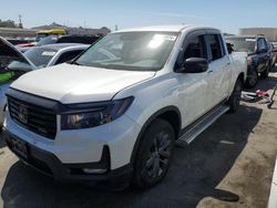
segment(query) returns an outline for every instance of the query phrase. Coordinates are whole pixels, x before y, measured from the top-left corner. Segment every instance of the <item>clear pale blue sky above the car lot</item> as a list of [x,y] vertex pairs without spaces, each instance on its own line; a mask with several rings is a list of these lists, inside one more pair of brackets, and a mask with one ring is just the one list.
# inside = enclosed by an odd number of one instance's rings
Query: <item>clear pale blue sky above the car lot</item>
[[239,28],[277,28],[277,0],[0,0],[0,19],[24,28],[57,22],[111,30],[156,24],[201,24],[238,33]]

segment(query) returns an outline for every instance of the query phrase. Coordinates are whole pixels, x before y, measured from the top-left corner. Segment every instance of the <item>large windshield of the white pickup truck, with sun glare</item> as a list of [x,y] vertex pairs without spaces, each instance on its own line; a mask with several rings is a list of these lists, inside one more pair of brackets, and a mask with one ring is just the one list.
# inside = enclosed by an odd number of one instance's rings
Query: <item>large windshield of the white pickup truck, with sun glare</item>
[[113,70],[157,71],[174,46],[175,32],[123,32],[109,34],[74,63]]

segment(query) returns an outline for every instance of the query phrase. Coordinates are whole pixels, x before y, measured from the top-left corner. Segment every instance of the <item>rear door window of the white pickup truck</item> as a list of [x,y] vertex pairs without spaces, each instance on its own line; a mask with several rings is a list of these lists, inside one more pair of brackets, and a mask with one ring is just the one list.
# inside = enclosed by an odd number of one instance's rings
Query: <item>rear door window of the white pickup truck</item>
[[205,40],[209,51],[208,61],[215,61],[224,56],[220,39],[217,34],[207,34]]

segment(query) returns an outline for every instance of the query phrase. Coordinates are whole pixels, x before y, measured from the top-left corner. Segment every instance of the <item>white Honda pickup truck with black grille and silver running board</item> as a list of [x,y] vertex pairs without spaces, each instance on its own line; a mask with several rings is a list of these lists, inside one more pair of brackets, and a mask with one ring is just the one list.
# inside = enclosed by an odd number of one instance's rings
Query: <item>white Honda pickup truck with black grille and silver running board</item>
[[11,84],[7,144],[60,180],[153,186],[166,175],[174,144],[192,143],[238,108],[246,58],[228,54],[208,27],[113,32],[72,63]]

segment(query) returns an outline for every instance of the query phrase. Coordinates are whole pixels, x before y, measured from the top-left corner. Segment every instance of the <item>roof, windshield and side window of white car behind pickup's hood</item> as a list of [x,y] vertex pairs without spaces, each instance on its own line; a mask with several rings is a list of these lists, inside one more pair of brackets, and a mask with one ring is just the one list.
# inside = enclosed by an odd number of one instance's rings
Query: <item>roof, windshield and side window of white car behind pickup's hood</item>
[[86,50],[89,44],[79,43],[60,43],[34,46],[31,49],[20,49],[37,69],[57,65],[76,58],[80,53]]

